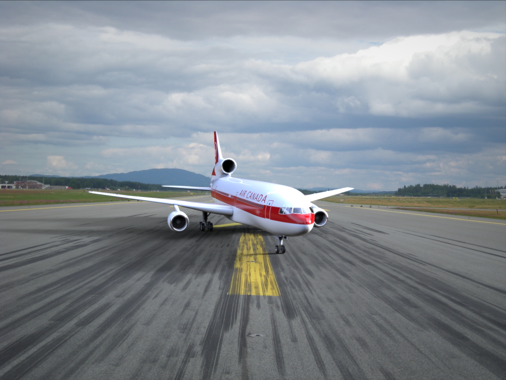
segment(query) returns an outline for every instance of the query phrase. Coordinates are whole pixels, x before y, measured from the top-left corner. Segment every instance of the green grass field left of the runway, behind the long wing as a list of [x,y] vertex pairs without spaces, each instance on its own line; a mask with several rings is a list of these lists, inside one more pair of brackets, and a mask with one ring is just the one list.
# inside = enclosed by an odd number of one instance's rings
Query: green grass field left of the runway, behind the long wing
[[[105,192],[105,191],[101,191]],[[107,192],[105,192],[107,193]],[[182,198],[190,193],[186,192],[110,192],[138,197],[151,198]],[[203,193],[192,193],[194,196]],[[31,206],[51,205],[58,203],[87,203],[87,202],[116,202],[124,201],[121,198],[90,194],[85,190],[0,190],[0,206]]]

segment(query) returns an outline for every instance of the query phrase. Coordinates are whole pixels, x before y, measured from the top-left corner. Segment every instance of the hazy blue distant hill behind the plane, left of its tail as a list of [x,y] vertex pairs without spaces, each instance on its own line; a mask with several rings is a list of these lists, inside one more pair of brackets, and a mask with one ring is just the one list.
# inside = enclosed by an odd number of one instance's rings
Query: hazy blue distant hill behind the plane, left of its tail
[[210,177],[183,169],[148,169],[128,173],[113,173],[81,178],[106,178],[116,181],[158,183],[162,185],[209,186]]

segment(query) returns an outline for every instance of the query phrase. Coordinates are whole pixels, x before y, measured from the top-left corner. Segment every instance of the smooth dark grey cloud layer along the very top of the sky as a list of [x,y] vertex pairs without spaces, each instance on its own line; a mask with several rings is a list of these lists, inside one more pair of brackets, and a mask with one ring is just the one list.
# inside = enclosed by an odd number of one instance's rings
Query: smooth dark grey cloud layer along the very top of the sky
[[504,2],[493,1],[3,2],[0,20],[114,26],[185,41],[248,34],[384,40],[465,28],[504,31],[505,12]]

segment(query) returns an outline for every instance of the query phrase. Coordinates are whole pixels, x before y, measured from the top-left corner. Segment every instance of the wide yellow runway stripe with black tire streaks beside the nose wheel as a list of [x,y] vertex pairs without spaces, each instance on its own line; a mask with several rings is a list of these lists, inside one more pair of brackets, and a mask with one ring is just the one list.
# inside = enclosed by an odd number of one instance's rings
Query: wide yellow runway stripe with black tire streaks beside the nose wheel
[[276,276],[274,276],[261,234],[241,235],[228,293],[280,295]]

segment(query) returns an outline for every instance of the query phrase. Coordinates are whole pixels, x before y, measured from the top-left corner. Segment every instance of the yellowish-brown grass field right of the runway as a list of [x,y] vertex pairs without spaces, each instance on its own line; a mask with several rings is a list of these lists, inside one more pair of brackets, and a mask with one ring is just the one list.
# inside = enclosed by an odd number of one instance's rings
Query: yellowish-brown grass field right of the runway
[[[343,202],[341,202],[343,200]],[[405,198],[405,197],[330,197],[322,201],[334,203],[359,204],[364,207],[391,206],[403,210],[435,212],[461,216],[478,216],[493,219],[506,219],[506,201],[500,199],[451,199],[451,198]],[[410,207],[422,207],[410,208]],[[431,209],[429,207],[437,207]],[[460,208],[467,210],[445,210]],[[478,210],[476,210],[478,209]],[[485,210],[479,210],[485,209]]]

